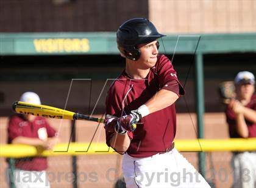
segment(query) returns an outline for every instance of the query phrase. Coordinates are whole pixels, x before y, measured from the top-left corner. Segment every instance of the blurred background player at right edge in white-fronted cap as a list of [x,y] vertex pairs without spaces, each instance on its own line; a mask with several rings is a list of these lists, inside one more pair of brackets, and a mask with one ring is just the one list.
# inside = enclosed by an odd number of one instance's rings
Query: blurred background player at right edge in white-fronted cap
[[[242,71],[235,77],[235,99],[226,109],[230,138],[256,138],[255,78]],[[256,187],[256,152],[233,152],[233,187]]]

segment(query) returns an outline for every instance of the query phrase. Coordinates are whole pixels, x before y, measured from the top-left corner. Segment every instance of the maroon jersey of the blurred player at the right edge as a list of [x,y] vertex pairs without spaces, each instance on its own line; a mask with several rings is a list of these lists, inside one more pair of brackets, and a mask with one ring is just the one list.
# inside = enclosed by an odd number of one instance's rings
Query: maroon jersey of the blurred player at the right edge
[[[252,95],[251,101],[246,105],[246,107],[256,110],[256,95]],[[229,124],[229,136],[230,138],[241,138],[240,135],[236,132],[236,120],[235,113],[233,113],[232,109],[227,107],[226,109],[226,120],[227,124]],[[246,119],[245,119],[246,120]],[[256,124],[246,120],[246,124],[248,127],[249,138],[256,137]]]

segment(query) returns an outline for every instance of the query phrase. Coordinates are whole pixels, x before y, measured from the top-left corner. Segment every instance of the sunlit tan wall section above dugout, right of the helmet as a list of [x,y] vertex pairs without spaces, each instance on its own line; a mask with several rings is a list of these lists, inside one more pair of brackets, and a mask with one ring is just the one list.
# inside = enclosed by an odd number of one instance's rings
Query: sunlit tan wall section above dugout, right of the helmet
[[164,33],[256,32],[256,1],[149,0],[149,19]]

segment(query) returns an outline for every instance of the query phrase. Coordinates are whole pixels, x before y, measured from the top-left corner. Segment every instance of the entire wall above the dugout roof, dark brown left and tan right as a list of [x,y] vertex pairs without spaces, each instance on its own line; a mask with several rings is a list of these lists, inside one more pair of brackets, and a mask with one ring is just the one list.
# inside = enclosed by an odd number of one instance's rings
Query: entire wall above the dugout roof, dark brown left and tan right
[[252,0],[0,0],[0,32],[116,31],[135,17],[165,33],[256,32]]

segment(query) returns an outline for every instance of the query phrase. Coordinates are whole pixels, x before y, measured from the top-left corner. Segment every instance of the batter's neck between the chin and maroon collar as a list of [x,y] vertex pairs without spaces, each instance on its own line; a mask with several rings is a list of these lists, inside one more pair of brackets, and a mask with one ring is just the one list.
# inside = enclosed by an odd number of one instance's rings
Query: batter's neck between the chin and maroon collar
[[133,79],[144,79],[147,77],[150,69],[140,69],[137,62],[132,62],[132,64],[126,63],[126,73],[130,78]]

